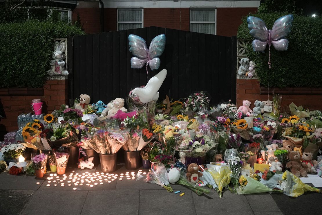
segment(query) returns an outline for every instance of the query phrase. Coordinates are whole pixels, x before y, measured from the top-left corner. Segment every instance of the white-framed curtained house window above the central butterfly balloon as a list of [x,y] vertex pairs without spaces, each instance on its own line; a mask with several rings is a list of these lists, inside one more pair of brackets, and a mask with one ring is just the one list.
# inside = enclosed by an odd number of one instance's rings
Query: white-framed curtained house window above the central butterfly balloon
[[143,27],[143,9],[118,9],[118,30]]

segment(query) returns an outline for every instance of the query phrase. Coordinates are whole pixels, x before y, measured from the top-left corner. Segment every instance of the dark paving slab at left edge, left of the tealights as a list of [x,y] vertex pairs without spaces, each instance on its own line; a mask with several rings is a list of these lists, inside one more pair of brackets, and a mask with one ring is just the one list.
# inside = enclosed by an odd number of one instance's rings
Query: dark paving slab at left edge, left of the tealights
[[[44,179],[30,175],[10,175],[7,172],[0,174],[0,190],[38,190]],[[40,184],[36,184],[39,182]]]

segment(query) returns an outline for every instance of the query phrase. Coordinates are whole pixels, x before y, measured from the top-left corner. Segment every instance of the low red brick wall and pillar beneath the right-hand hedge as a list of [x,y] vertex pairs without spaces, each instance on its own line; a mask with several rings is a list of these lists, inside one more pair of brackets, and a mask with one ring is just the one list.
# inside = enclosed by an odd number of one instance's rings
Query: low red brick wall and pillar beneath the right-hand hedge
[[[287,106],[294,102],[297,106],[302,105],[304,108],[309,110],[322,110],[322,94],[312,95],[308,93],[307,95],[283,95],[283,93],[278,93],[282,95],[281,107]],[[301,93],[303,94],[303,92]],[[273,95],[270,94],[270,100],[272,100]],[[260,83],[257,79],[237,79],[236,83],[236,103],[237,107],[242,105],[243,100],[248,100],[251,102],[251,109],[254,107],[254,102],[256,100],[266,101],[268,100],[267,94],[260,94]]]

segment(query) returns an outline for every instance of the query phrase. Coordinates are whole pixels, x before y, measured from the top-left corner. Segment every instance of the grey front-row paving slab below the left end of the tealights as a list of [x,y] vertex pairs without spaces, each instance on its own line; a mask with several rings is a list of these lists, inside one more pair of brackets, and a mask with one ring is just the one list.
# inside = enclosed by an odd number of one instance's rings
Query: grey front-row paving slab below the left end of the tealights
[[88,191],[37,191],[23,214],[80,214],[87,194]]

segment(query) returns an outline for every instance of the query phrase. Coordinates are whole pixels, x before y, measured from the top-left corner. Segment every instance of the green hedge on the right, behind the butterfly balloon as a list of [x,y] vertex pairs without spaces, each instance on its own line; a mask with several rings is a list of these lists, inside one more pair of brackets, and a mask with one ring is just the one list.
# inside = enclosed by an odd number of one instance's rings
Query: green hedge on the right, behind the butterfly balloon
[[[269,29],[282,13],[252,14],[262,19]],[[248,15],[250,16],[250,15]],[[259,82],[268,86],[268,47],[265,53],[254,52],[249,34],[247,17],[242,18],[237,38],[249,40],[247,57],[255,61]],[[291,32],[287,36],[287,51],[271,51],[270,86],[272,87],[322,87],[322,17],[294,15]]]

